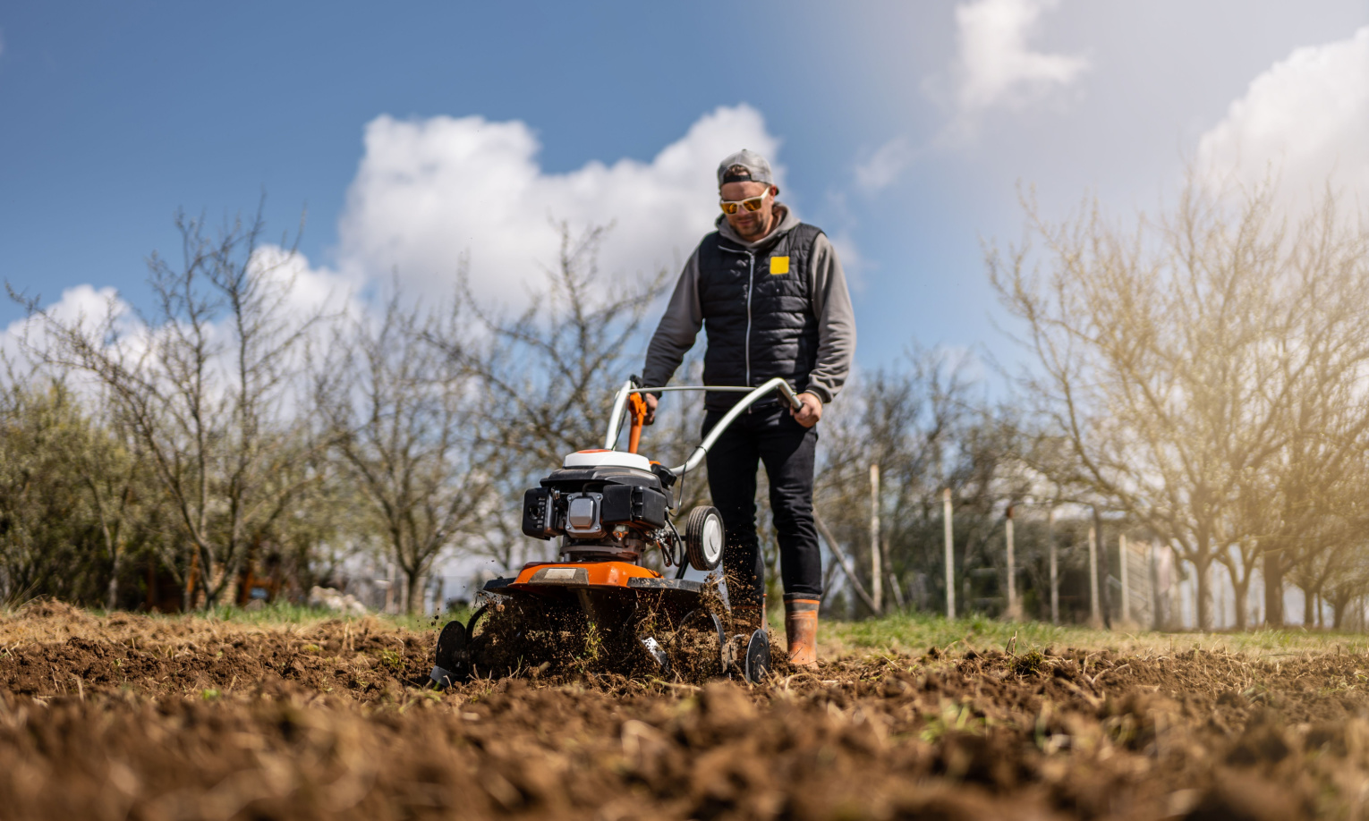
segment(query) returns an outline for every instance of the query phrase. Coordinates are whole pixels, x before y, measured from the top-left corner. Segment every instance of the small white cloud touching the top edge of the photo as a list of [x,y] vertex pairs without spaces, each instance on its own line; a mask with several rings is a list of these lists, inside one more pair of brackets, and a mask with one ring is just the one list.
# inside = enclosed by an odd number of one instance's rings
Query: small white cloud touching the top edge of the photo
[[1058,0],[975,0],[956,8],[960,56],[957,103],[965,114],[1025,105],[1088,68],[1082,56],[1031,51],[1043,11]]

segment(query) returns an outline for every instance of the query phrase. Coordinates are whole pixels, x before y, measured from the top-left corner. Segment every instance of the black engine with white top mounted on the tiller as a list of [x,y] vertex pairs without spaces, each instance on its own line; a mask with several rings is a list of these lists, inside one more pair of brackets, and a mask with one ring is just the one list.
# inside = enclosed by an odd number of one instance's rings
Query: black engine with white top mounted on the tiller
[[674,557],[669,524],[675,476],[643,456],[580,450],[523,494],[523,532],[561,539],[570,560],[637,561],[649,547]]

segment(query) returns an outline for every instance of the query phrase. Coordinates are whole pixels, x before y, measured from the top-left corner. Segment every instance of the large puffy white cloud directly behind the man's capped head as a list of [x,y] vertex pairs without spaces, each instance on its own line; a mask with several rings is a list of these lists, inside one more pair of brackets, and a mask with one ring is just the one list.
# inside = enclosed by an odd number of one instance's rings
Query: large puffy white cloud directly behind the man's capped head
[[750,148],[775,164],[778,146],[754,108],[724,107],[650,161],[590,161],[548,174],[522,122],[379,116],[367,125],[348,192],[340,267],[370,278],[397,268],[416,290],[446,293],[470,253],[478,296],[517,300],[557,259],[554,219],[572,230],[613,223],[600,256],[609,274],[674,268],[719,213],[717,161]]

